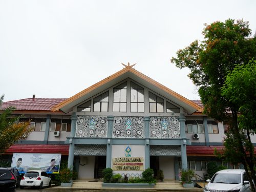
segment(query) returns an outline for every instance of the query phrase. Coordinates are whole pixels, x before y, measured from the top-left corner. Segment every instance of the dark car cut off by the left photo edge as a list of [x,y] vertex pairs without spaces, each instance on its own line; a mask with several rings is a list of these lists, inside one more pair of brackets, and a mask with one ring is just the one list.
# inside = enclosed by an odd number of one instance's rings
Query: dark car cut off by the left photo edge
[[16,176],[11,168],[0,168],[0,191],[15,191]]

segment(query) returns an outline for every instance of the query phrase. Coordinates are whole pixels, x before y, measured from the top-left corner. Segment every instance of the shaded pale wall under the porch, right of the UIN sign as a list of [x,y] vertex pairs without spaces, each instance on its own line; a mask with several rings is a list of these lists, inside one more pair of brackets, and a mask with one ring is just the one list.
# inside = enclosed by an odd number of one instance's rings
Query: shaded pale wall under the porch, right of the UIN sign
[[159,169],[163,170],[164,179],[175,179],[174,157],[159,157]]

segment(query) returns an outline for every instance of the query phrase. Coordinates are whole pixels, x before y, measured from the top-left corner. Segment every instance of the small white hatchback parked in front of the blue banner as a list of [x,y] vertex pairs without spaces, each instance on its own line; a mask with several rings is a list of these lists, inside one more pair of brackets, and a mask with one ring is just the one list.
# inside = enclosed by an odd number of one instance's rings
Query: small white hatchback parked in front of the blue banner
[[29,170],[20,180],[20,188],[25,186],[51,187],[51,182],[50,176],[43,170]]

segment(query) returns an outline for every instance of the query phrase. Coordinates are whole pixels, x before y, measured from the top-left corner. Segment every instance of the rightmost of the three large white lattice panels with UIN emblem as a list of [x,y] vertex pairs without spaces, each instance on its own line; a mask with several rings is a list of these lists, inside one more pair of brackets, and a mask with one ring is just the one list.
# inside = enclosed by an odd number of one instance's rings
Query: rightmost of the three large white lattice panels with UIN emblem
[[151,117],[150,138],[180,138],[179,117]]

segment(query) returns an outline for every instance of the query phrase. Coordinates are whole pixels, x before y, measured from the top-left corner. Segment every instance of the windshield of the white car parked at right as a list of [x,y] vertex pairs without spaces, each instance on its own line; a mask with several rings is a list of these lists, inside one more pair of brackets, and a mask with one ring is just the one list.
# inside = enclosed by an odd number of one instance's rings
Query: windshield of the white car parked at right
[[212,178],[210,182],[238,184],[238,183],[241,183],[241,175],[240,174],[215,174],[214,178]]

